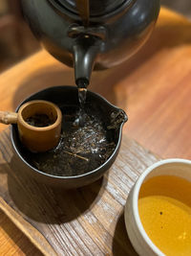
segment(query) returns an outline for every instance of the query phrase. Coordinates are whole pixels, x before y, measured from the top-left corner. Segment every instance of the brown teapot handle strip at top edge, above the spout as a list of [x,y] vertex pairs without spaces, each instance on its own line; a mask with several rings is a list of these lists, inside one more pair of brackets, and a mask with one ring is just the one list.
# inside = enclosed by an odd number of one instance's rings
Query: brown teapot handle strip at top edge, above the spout
[[75,0],[76,7],[82,19],[84,27],[88,27],[90,19],[90,3],[89,0]]

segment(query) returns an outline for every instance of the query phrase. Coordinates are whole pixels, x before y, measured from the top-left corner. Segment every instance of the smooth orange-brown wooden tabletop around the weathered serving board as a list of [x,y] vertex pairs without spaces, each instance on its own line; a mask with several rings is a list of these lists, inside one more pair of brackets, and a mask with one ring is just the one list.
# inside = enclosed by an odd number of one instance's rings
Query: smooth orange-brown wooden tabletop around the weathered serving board
[[[61,84],[74,84],[74,71],[40,51],[0,76],[1,110]],[[123,131],[145,148],[164,158],[191,158],[191,23],[184,17],[161,9],[157,28],[138,55],[94,73],[89,88],[127,112]],[[3,213],[0,224],[1,255],[40,255]]]

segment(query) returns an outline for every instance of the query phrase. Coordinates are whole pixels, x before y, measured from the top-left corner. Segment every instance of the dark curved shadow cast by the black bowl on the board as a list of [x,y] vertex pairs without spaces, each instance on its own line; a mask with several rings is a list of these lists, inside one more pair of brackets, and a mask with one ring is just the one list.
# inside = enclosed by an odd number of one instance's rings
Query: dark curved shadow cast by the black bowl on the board
[[51,188],[26,175],[15,156],[11,158],[9,170],[8,187],[14,205],[26,218],[44,223],[73,221],[90,208],[102,186],[99,179],[75,190]]

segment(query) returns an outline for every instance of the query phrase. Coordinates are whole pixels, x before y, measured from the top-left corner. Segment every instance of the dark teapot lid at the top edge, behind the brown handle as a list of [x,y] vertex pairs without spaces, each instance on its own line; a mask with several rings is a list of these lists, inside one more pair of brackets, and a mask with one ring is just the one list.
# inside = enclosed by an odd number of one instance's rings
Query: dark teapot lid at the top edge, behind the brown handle
[[[77,14],[76,1],[75,0],[50,0],[56,8],[60,11],[67,9],[70,12]],[[130,0],[89,0],[90,4],[90,16],[105,15],[110,12],[114,12],[122,6],[125,2]]]

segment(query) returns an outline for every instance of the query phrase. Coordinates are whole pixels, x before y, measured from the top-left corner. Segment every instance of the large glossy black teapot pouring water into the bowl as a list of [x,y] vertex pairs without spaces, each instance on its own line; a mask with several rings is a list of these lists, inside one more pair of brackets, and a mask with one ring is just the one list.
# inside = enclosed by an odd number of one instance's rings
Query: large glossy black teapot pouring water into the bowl
[[86,88],[93,70],[130,58],[151,35],[159,0],[21,0],[33,34],[44,48],[74,67]]

